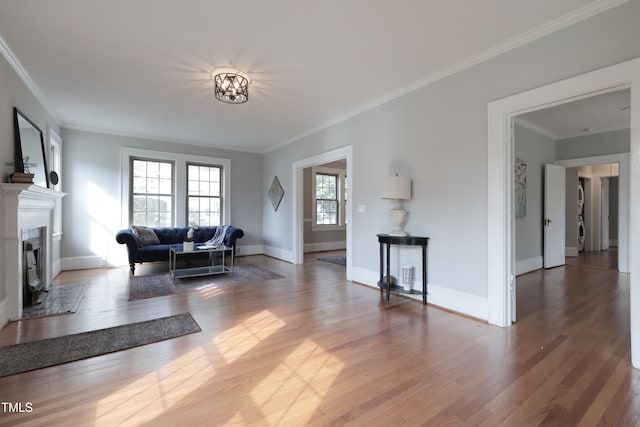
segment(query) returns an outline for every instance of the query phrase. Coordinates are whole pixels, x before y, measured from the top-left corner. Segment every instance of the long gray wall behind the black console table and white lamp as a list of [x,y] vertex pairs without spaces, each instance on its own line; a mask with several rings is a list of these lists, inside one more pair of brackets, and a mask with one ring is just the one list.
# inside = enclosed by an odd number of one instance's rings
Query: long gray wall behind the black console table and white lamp
[[[293,162],[352,145],[349,194],[353,206],[366,206],[353,214],[354,280],[378,270],[375,234],[388,228],[380,188],[401,171],[413,179],[406,229],[431,238],[430,284],[486,297],[487,104],[640,56],[638,16],[640,2],[626,3],[274,150],[263,186],[278,175],[290,194]],[[265,210],[265,243],[287,252],[292,197],[282,203]]]

